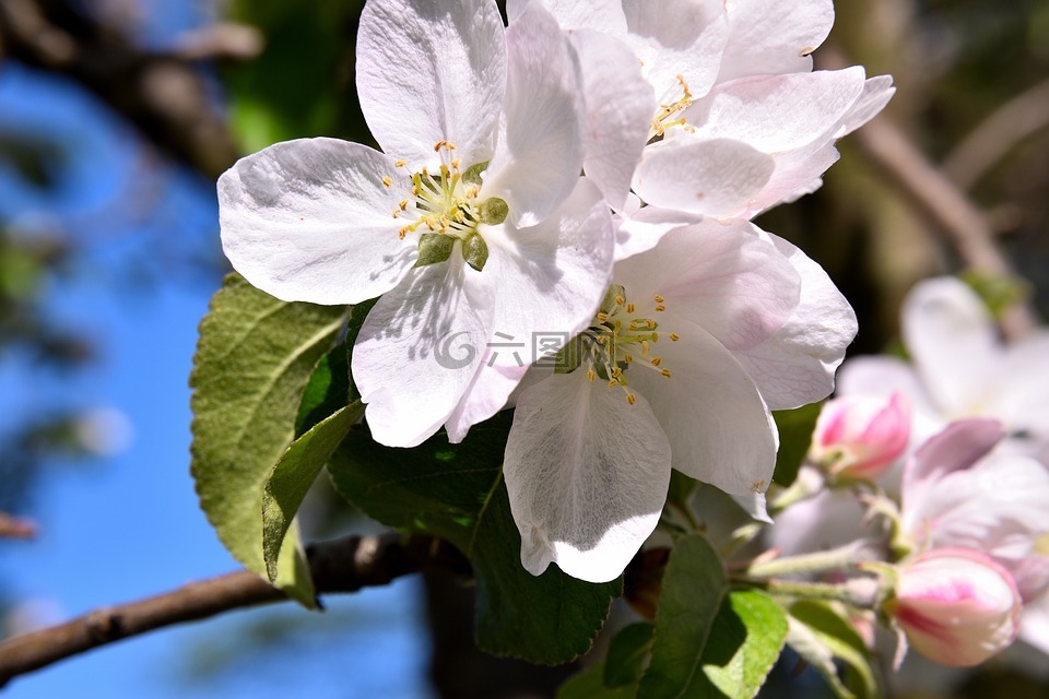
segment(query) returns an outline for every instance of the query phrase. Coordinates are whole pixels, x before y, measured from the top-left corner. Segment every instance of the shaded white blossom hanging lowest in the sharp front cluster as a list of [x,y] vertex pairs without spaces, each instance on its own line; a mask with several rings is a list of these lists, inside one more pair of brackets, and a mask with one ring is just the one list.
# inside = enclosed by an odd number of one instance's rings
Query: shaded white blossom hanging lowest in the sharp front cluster
[[[705,221],[616,263],[565,366],[517,399],[504,475],[526,569],[555,561],[614,579],[656,526],[672,466],[764,493],[778,442],[769,406],[829,390],[820,371],[782,372],[840,362],[856,329],[823,270],[786,245],[746,222]],[[836,344],[801,330],[829,325]]]

